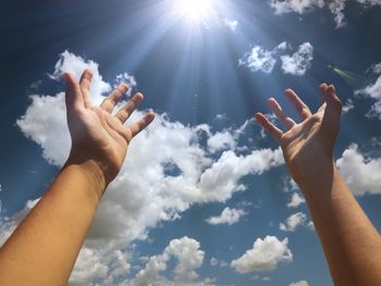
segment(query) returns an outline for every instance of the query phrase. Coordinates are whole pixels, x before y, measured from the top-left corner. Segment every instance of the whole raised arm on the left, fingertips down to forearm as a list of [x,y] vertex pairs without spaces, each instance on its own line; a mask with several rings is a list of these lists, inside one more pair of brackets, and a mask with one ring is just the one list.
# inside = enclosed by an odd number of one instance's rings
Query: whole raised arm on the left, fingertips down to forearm
[[65,285],[99,200],[118,175],[131,139],[152,120],[148,113],[131,126],[123,123],[143,100],[137,94],[114,115],[126,85],[100,107],[90,100],[90,71],[77,83],[66,80],[67,124],[72,149],[48,191],[0,249],[1,285]]

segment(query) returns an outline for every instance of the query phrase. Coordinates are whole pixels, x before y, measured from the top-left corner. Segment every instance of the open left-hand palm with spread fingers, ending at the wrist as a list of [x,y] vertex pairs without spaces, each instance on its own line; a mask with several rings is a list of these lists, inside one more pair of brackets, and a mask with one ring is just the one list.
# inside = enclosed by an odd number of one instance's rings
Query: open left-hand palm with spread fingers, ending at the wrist
[[149,112],[134,124],[125,126],[123,124],[143,100],[142,94],[136,94],[115,115],[111,115],[118,101],[127,91],[127,85],[121,84],[97,107],[90,98],[91,71],[86,70],[79,83],[69,73],[62,77],[66,83],[67,124],[72,138],[66,164],[90,162],[93,166],[99,167],[107,186],[121,170],[130,141],[152,122],[155,114]]

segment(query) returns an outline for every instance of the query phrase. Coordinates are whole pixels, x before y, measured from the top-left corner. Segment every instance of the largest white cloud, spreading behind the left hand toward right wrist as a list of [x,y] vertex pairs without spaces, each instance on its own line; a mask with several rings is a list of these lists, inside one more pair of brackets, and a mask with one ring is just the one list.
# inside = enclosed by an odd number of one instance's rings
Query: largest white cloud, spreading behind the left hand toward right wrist
[[[93,70],[94,100],[101,102],[110,84],[103,82],[94,61],[65,51],[51,77],[59,78],[62,72],[72,72],[79,77],[84,69]],[[133,78],[126,74],[115,80],[128,78],[132,84]],[[132,121],[142,115],[137,111]],[[64,164],[71,141],[63,92],[30,96],[30,104],[16,125],[41,147],[47,161],[57,166]],[[170,121],[165,114],[158,115],[150,127],[132,141],[126,163],[106,191],[71,283],[84,284],[86,281],[89,284],[96,279],[110,284],[119,272],[127,273],[130,269],[127,256],[121,259],[118,250],[127,249],[135,239],[147,238],[149,228],[180,217],[194,203],[226,201],[235,191],[245,189],[239,184],[244,176],[261,174],[283,164],[280,149],[239,154],[237,142],[244,126],[219,134],[211,132],[208,125],[186,126]],[[233,150],[224,151],[220,157],[213,154],[213,151],[228,148]],[[24,213],[28,210],[27,207]],[[9,235],[19,222],[14,217],[9,220],[4,233]],[[87,261],[93,261],[95,266],[86,271]]]

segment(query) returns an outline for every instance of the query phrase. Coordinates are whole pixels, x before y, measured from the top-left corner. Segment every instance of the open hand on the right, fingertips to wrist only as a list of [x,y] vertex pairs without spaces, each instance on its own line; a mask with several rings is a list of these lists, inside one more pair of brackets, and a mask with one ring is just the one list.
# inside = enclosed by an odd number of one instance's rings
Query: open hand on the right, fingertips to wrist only
[[285,133],[269,122],[262,113],[255,115],[280,144],[290,174],[299,184],[333,164],[333,148],[340,129],[342,103],[334,86],[322,84],[320,91],[323,103],[312,114],[292,89],[285,90],[285,96],[300,115],[300,123],[292,120],[275,99],[269,99],[270,108],[286,128]]

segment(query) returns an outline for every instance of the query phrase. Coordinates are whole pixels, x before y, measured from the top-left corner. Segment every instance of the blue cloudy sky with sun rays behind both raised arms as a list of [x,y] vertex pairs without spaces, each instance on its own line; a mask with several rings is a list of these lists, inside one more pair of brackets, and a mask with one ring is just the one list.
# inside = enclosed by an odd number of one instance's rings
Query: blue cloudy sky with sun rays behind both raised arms
[[[380,0],[2,4],[0,245],[70,150],[60,74],[94,72],[158,115],[132,142],[69,285],[332,285],[281,150],[251,120],[292,87],[344,104],[335,162],[381,229]],[[131,95],[128,95],[131,96]],[[127,100],[128,96],[124,100]]]

